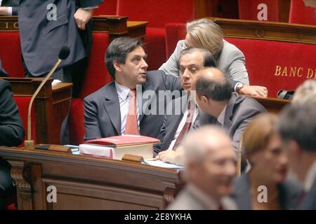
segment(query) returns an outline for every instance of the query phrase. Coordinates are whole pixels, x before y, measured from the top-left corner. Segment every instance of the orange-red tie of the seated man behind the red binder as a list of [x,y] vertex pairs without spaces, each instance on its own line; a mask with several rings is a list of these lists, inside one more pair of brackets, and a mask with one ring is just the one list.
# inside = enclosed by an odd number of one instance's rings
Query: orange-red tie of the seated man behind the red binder
[[137,125],[136,90],[130,90],[129,113],[127,114],[125,134],[140,135]]

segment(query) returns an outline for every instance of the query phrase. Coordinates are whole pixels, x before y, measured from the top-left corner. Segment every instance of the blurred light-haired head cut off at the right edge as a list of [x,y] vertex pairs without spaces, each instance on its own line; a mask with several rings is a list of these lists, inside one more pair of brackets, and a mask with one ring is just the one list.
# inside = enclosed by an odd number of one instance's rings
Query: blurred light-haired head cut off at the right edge
[[316,105],[316,80],[305,80],[298,86],[292,99],[292,104]]

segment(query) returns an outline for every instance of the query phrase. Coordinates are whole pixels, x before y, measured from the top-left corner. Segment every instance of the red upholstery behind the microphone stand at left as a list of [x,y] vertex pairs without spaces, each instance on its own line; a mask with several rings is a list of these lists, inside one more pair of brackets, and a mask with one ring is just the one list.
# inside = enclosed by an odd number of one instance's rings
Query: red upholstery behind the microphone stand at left
[[[14,96],[15,103],[18,105],[19,113],[22,119],[22,124],[25,129],[25,138],[23,139],[22,144],[20,146],[24,146],[24,141],[27,139],[27,110],[29,108],[29,101],[31,100],[31,97],[20,97],[20,96]],[[31,114],[31,134],[32,134],[32,140],[34,140],[34,143],[37,143],[37,132],[36,132],[36,123],[35,123],[35,111],[34,111],[34,103],[32,106],[32,114]]]

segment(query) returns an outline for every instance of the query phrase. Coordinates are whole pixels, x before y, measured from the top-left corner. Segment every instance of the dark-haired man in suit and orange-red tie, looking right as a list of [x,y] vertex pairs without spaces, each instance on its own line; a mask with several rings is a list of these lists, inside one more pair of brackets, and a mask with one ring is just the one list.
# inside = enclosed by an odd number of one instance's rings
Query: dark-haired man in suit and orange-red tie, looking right
[[158,136],[168,102],[164,99],[182,87],[176,76],[147,72],[145,59],[137,38],[110,43],[105,61],[114,81],[84,99],[86,140],[121,134]]

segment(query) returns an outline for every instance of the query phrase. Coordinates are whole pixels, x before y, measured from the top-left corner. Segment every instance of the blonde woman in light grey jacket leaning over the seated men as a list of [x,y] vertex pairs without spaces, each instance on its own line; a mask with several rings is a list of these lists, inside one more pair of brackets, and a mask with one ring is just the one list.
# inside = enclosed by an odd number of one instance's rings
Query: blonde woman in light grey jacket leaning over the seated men
[[266,87],[249,85],[245,57],[242,51],[225,41],[222,29],[209,19],[187,22],[185,40],[178,41],[173,54],[168,61],[160,66],[159,70],[163,70],[168,75],[179,76],[178,59],[180,52],[190,47],[209,50],[216,59],[216,67],[228,74],[231,80],[236,81],[235,90],[237,93],[267,97]]

